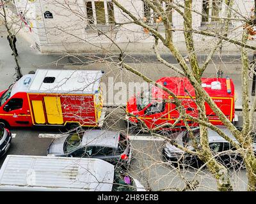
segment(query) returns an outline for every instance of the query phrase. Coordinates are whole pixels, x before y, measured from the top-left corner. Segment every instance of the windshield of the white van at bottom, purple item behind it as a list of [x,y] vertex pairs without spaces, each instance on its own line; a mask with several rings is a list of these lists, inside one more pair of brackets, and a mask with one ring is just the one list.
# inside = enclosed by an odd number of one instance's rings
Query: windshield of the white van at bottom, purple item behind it
[[115,170],[112,191],[136,191],[134,180],[122,170]]

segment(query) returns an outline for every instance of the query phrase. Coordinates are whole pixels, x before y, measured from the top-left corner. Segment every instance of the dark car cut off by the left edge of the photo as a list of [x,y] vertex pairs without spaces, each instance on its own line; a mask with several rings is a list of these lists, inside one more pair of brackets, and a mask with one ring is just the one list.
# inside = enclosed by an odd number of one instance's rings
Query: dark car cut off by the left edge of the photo
[[2,157],[10,148],[11,141],[12,134],[9,129],[4,128],[3,125],[0,124],[0,157]]

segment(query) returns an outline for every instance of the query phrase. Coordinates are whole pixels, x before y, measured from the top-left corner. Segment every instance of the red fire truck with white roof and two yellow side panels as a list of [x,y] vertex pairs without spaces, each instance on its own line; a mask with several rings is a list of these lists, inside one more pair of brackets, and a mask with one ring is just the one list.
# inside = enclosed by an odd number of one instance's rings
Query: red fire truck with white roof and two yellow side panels
[[99,126],[104,72],[38,69],[0,92],[6,126]]

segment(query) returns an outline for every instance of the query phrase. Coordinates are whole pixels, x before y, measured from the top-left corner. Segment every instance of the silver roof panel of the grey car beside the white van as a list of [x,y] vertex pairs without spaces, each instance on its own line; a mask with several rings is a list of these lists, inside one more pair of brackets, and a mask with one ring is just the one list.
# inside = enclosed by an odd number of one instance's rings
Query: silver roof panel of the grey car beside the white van
[[82,145],[101,146],[101,147],[118,147],[119,132],[103,129],[90,129],[83,135]]

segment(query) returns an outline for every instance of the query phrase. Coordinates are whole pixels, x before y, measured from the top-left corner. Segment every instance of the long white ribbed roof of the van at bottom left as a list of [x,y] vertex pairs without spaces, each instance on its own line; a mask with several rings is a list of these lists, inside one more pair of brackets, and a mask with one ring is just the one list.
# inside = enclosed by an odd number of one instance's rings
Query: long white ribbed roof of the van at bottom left
[[101,159],[8,155],[0,191],[111,191],[114,166]]

